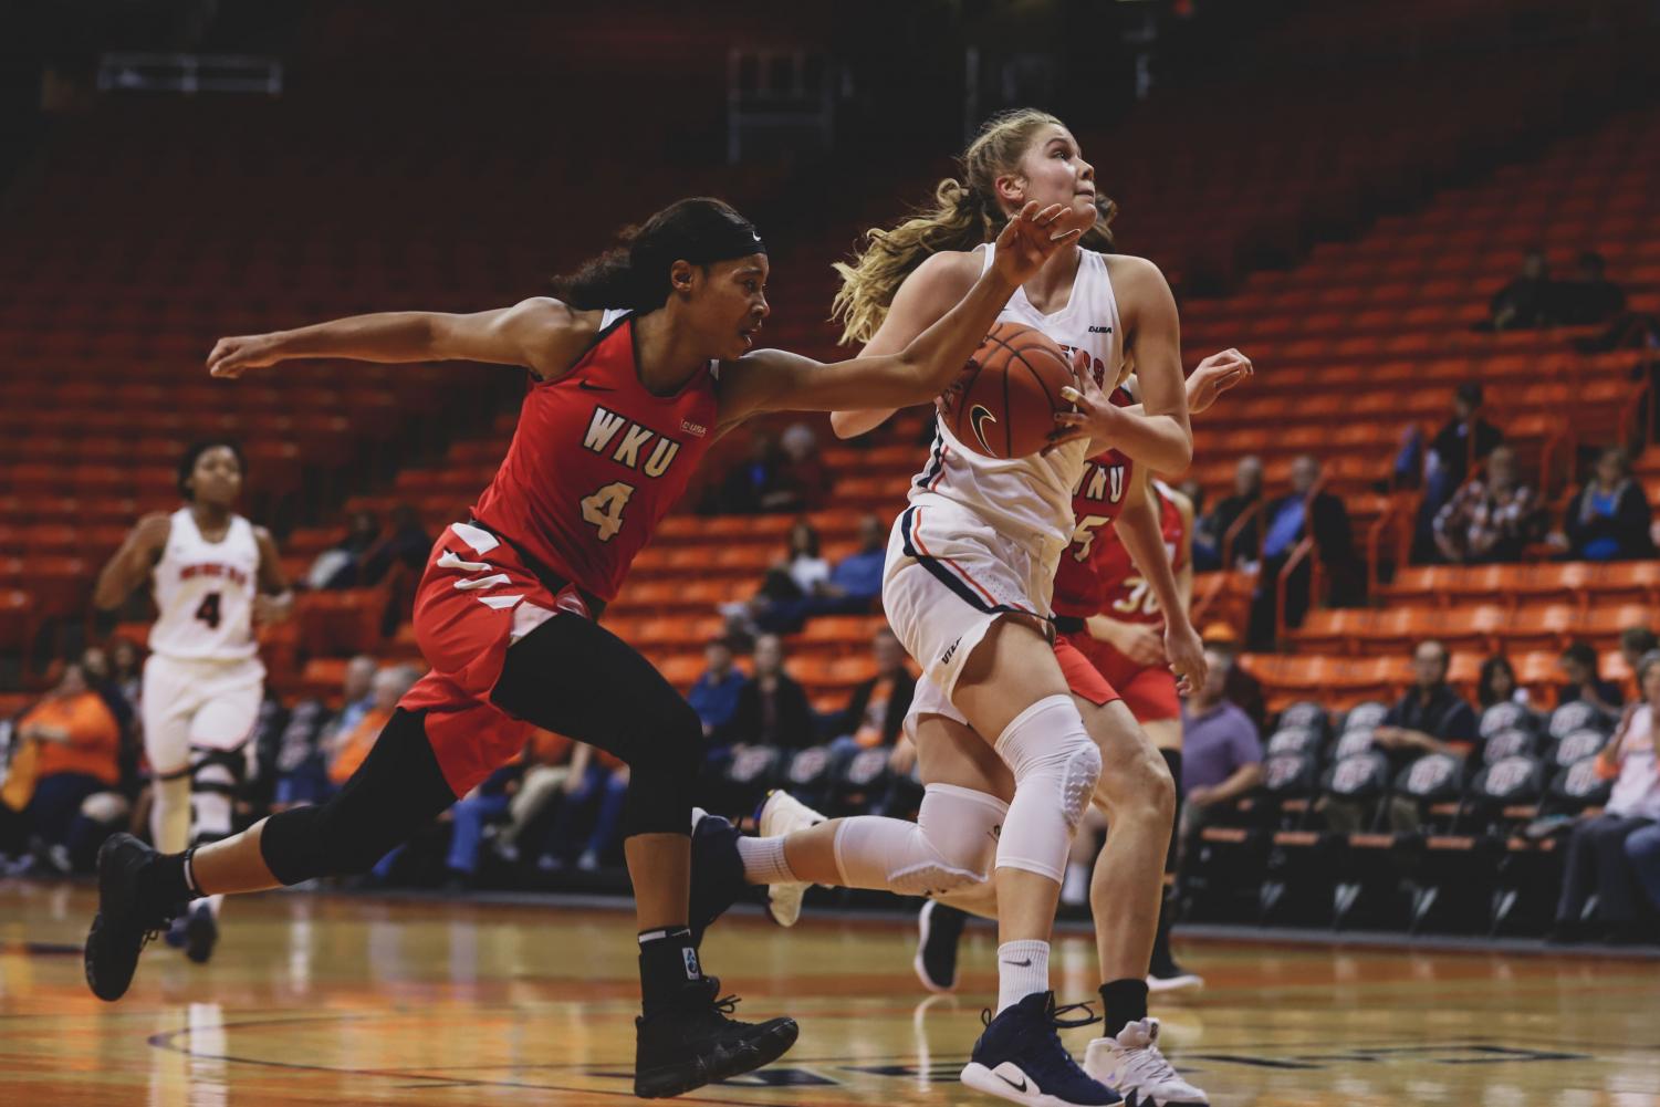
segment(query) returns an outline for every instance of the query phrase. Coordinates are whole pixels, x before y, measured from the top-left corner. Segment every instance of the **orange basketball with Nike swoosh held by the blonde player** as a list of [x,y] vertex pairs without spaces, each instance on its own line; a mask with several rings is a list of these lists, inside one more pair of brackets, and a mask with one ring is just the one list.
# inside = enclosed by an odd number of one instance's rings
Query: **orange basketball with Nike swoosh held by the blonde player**
[[1071,407],[1061,398],[1071,383],[1072,365],[1054,339],[1024,324],[998,324],[940,397],[940,418],[974,453],[1024,458],[1044,448],[1054,413]]

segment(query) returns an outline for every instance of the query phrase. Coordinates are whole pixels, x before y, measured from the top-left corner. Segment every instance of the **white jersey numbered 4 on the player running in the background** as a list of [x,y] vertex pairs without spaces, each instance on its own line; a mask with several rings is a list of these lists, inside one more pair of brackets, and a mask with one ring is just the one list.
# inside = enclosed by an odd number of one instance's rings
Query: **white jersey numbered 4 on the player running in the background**
[[254,642],[257,588],[259,543],[252,523],[232,514],[224,538],[211,543],[203,538],[191,510],[179,508],[156,563],[161,616],[149,627],[151,652],[198,661],[252,657],[259,652]]

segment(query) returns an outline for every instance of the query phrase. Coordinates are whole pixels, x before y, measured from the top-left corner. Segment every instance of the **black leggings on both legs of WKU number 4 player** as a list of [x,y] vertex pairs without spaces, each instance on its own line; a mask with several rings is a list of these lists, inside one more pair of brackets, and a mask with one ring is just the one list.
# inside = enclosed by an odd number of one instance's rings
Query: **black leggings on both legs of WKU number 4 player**
[[[691,833],[702,724],[627,642],[581,616],[556,614],[508,649],[491,700],[629,765],[624,836]],[[425,715],[400,707],[334,798],[266,822],[261,851],[277,880],[369,871],[455,803]]]

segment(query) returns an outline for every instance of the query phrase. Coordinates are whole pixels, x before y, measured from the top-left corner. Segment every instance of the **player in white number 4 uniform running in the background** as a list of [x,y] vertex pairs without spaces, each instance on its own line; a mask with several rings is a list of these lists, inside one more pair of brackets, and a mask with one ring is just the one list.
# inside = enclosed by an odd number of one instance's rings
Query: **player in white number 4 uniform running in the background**
[[[236,513],[242,451],[199,441],[179,458],[184,506],[146,514],[98,574],[93,602],[115,609],[148,579],[156,601],[139,697],[151,773],[149,833],[179,853],[231,833],[266,694],[256,622],[289,617],[294,596],[271,531]],[[212,956],[224,896],[199,896],[169,939]]]

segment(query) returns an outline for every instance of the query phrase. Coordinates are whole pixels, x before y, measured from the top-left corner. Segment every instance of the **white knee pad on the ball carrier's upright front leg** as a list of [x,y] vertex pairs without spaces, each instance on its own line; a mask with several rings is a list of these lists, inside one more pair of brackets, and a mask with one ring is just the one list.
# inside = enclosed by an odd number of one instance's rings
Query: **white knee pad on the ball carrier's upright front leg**
[[1014,802],[998,843],[998,868],[1061,880],[1077,822],[1101,777],[1101,750],[1071,695],[1038,700],[998,737],[1014,773]]

